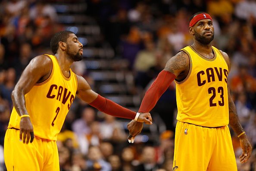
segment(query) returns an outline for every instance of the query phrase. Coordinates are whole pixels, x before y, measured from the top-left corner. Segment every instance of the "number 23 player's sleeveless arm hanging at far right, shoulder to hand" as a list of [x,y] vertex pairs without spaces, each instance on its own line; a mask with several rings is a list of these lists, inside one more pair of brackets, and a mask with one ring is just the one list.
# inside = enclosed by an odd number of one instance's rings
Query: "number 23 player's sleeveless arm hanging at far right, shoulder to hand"
[[[230,71],[231,64],[228,57],[228,54],[222,51],[223,56],[225,57],[225,60],[228,64],[228,71]],[[230,95],[230,89],[228,87],[228,109],[229,109],[229,125],[234,130],[234,132],[237,134],[237,136],[240,139],[240,145],[242,147],[243,153],[239,157],[239,160],[241,163],[245,163],[248,161],[248,159],[251,156],[252,153],[252,146],[250,144],[250,141],[240,123],[240,120],[237,115],[237,109],[233,102],[233,99]]]

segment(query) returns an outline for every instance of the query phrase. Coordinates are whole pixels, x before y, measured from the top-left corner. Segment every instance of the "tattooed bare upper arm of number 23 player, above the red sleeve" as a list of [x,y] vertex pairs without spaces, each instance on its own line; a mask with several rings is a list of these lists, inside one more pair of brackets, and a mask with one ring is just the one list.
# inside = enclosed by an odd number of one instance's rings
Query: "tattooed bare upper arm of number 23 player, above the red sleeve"
[[189,65],[188,55],[184,51],[180,51],[167,61],[164,70],[172,72],[177,77],[181,72],[185,71]]

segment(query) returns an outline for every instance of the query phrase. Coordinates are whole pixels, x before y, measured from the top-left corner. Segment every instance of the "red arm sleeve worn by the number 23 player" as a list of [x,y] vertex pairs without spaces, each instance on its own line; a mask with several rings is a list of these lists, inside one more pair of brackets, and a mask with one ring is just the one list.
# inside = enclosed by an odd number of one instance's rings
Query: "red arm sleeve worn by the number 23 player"
[[156,102],[159,100],[165,90],[167,90],[167,88],[175,78],[176,76],[173,73],[162,70],[157,76],[156,80],[147,90],[141,102],[139,112],[150,112],[155,107]]

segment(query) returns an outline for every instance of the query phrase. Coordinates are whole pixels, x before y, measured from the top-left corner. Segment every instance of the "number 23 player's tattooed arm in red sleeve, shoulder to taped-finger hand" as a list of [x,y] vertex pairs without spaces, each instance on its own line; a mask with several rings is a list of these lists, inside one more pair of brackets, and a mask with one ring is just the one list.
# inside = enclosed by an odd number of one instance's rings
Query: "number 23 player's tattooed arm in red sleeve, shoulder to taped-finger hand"
[[[169,59],[165,65],[165,69],[159,73],[156,80],[147,90],[141,102],[139,113],[150,112],[172,81],[189,69],[189,66],[189,57],[184,51],[178,52],[178,54]],[[141,132],[143,124],[132,120],[128,123],[127,127],[130,134],[128,139],[132,140]]]

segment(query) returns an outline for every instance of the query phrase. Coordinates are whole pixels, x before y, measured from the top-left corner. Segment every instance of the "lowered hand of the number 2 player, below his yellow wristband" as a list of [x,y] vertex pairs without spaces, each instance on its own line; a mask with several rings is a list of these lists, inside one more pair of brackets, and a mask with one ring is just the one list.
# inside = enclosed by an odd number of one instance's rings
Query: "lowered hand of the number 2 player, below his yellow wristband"
[[22,117],[19,123],[19,127],[19,141],[23,141],[24,144],[28,144],[30,139],[30,143],[32,143],[34,140],[34,132],[30,117]]

